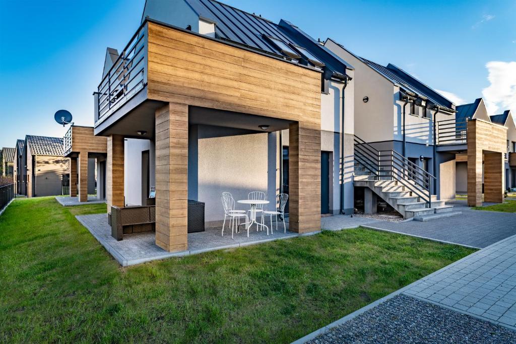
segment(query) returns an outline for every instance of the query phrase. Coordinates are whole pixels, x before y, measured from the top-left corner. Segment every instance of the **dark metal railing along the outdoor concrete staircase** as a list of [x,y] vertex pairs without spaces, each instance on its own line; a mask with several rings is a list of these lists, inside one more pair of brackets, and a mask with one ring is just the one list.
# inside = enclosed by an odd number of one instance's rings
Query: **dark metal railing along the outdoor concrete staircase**
[[389,177],[406,187],[414,196],[431,206],[432,185],[436,177],[393,150],[377,150],[369,143],[354,137],[354,157],[375,179]]

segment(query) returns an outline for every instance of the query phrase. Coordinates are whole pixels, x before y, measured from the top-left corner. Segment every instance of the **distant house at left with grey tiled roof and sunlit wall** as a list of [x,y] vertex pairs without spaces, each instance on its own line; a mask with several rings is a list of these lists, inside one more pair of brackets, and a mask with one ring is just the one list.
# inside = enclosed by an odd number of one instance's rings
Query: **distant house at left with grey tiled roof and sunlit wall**
[[21,189],[27,197],[63,194],[69,161],[63,157],[63,139],[27,135],[20,159]]

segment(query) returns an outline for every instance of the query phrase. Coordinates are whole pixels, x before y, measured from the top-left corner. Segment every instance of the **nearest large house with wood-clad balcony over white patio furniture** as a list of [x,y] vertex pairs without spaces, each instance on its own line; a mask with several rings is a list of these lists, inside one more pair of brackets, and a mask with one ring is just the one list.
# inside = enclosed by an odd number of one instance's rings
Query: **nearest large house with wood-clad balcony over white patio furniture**
[[[124,58],[121,58],[121,57]],[[156,244],[183,251],[187,200],[289,194],[289,230],[353,211],[353,67],[295,25],[213,0],[149,0],[94,93],[110,206],[156,189]],[[344,168],[341,169],[341,166]]]

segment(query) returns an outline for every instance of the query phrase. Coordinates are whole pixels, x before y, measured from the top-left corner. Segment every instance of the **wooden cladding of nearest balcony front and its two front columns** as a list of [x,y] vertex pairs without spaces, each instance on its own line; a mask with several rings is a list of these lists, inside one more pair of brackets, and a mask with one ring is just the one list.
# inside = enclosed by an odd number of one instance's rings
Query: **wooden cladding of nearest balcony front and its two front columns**
[[147,97],[167,104],[155,113],[156,244],[188,247],[189,106],[290,121],[290,230],[320,230],[321,73],[152,22],[147,48]]

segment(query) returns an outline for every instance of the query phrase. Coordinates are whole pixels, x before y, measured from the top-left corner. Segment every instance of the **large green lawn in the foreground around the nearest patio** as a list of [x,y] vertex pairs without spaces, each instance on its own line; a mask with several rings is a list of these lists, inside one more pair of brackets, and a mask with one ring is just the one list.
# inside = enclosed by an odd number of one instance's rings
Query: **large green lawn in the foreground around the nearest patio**
[[0,342],[291,342],[474,250],[359,228],[121,268],[74,218],[0,216]]

